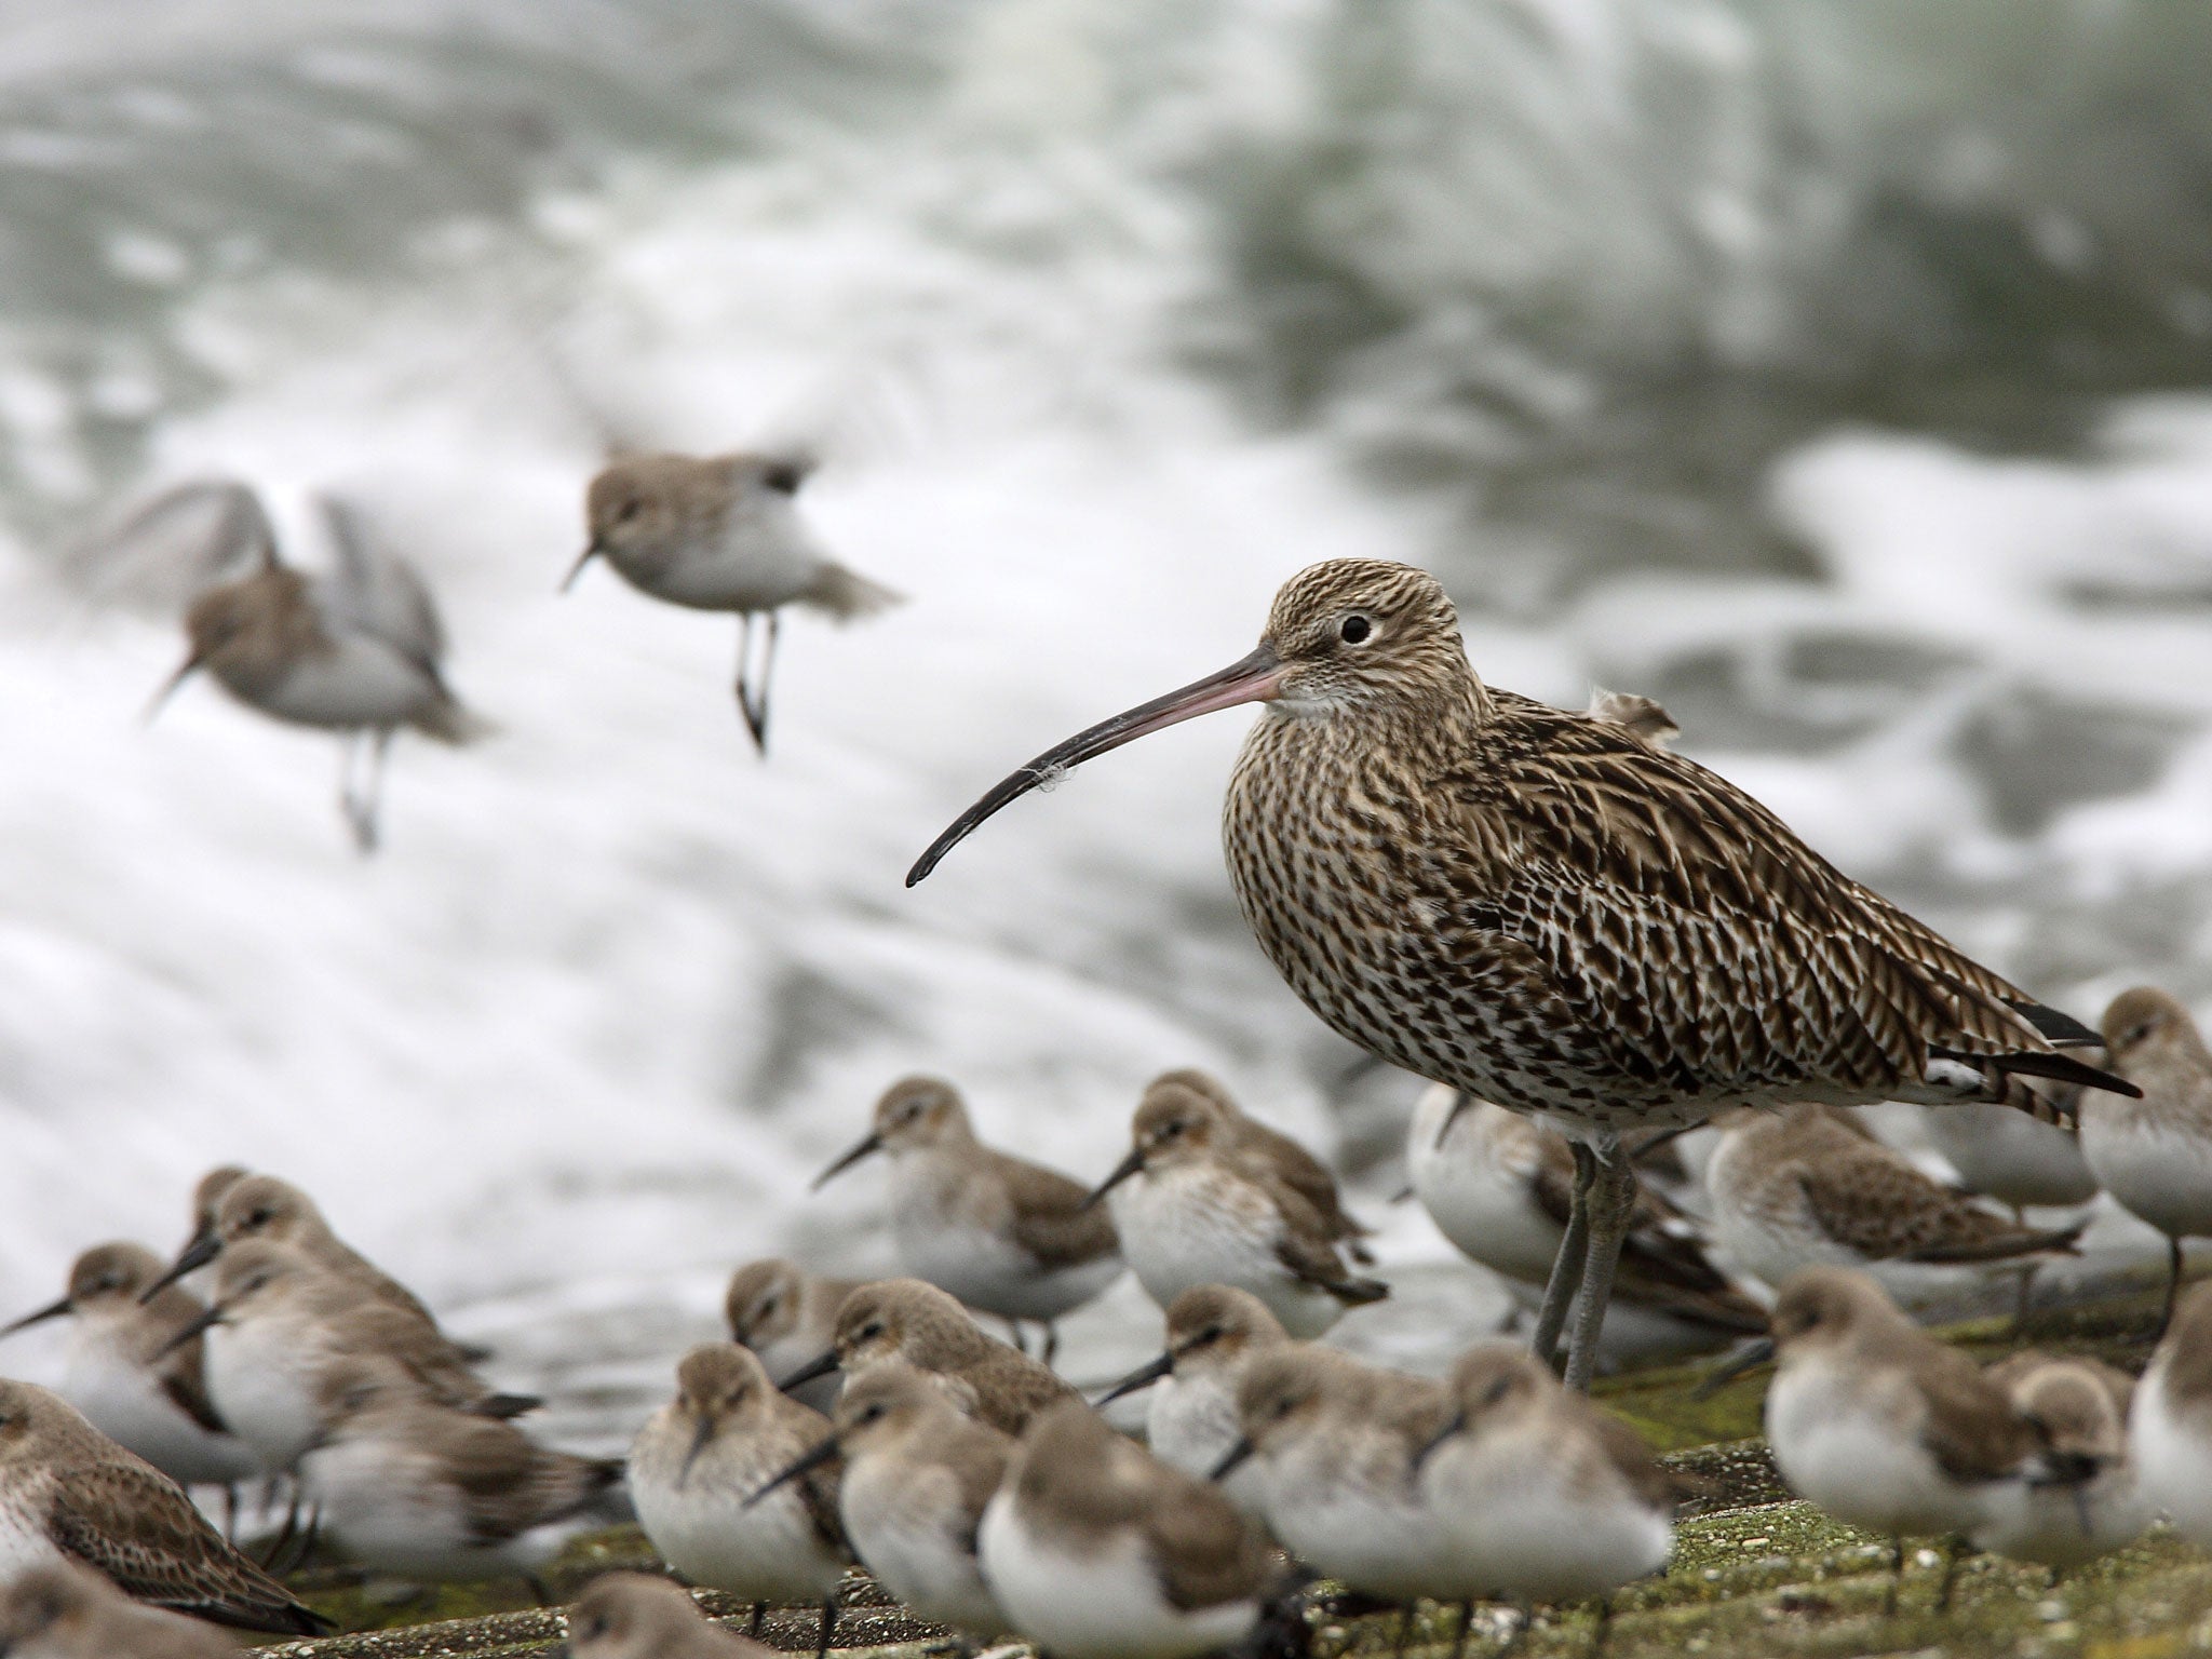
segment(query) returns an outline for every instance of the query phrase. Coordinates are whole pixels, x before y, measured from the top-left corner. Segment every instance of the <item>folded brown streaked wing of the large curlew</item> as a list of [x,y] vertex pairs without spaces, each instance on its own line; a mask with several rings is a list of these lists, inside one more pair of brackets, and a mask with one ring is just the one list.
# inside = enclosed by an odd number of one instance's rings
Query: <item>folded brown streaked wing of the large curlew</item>
[[[1464,925],[1526,951],[1624,1079],[1756,1095],[1924,1086],[1933,1051],[2077,1075],[2073,1024],[1840,874],[1714,772],[1493,692],[1449,776]],[[2110,1079],[2117,1084],[2117,1079]]]

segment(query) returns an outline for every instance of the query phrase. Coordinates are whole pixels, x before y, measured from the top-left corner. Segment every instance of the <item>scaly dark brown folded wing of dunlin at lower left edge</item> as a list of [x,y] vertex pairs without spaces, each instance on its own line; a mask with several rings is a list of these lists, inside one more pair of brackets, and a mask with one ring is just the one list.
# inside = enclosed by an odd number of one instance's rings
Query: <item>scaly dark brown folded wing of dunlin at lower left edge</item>
[[53,1542],[126,1595],[243,1630],[312,1635],[319,1619],[223,1542],[190,1500],[142,1464],[58,1471]]

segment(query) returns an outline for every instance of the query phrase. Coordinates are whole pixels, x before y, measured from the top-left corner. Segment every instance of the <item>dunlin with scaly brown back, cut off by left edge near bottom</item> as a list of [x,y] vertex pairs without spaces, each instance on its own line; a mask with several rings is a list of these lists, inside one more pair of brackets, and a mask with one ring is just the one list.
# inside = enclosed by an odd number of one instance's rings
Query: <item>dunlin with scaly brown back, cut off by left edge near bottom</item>
[[71,1559],[195,1619],[294,1635],[325,1624],[230,1548],[177,1482],[62,1396],[0,1378],[0,1579]]

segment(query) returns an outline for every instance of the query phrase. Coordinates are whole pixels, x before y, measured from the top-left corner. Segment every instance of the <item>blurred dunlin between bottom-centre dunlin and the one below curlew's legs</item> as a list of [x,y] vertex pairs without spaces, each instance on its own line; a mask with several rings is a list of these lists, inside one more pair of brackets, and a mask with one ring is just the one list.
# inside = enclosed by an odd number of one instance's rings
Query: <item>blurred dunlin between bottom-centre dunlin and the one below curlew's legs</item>
[[1239,1440],[1214,1478],[1259,1469],[1267,1528],[1354,1590],[1411,1606],[1489,1590],[1429,1504],[1420,1453],[1451,1420],[1431,1378],[1298,1345],[1256,1358],[1237,1389]]

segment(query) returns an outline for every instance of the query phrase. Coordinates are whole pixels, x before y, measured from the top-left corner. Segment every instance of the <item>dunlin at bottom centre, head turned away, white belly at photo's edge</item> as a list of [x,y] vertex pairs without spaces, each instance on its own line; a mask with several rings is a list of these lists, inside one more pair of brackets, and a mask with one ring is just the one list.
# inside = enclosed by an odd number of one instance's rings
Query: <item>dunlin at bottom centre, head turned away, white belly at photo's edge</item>
[[1243,1639],[1267,1546],[1194,1475],[1064,1400],[1022,1436],[978,1533],[1006,1617],[1060,1659],[1183,1659]]

